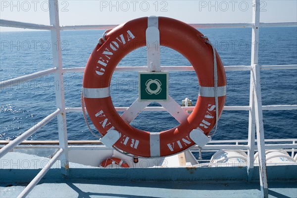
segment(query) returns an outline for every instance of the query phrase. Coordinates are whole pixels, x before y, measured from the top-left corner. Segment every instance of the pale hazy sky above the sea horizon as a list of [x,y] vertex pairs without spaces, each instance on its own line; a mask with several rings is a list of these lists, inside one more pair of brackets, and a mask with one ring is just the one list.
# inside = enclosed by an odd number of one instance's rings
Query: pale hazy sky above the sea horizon
[[[142,16],[187,23],[251,22],[251,0],[60,0],[60,25],[121,24]],[[261,22],[297,21],[297,0],[260,1]],[[0,0],[0,18],[49,24],[47,0]],[[0,27],[1,31],[16,29]],[[19,29],[23,30],[23,29]]]

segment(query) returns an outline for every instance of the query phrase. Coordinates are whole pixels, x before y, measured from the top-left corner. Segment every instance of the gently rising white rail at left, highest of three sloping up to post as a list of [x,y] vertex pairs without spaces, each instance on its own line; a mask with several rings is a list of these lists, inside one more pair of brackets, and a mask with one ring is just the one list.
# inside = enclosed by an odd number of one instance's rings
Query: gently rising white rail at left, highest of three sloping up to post
[[43,71],[38,71],[38,72],[35,72],[35,73],[32,73],[32,74],[20,76],[20,77],[17,77],[17,78],[12,78],[12,79],[9,79],[9,80],[1,81],[0,82],[0,90],[4,89],[6,87],[9,87],[9,86],[11,87],[13,85],[20,84],[20,83],[22,83],[24,81],[33,80],[33,79],[36,79],[36,78],[40,78],[40,77],[52,74],[56,70],[57,70],[57,68],[54,67],[54,68],[46,69],[46,70],[43,70]]

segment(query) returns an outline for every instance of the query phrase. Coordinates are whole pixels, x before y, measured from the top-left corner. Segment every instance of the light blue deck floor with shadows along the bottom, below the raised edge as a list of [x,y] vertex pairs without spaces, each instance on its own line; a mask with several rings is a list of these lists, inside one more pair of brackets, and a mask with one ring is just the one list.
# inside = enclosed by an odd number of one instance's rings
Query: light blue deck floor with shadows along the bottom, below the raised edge
[[[29,194],[30,198],[259,198],[258,182],[200,181],[102,181],[94,179],[44,180]],[[15,198],[27,183],[3,187],[1,198]],[[7,185],[7,184],[6,184]],[[270,182],[269,198],[296,198],[295,182]]]

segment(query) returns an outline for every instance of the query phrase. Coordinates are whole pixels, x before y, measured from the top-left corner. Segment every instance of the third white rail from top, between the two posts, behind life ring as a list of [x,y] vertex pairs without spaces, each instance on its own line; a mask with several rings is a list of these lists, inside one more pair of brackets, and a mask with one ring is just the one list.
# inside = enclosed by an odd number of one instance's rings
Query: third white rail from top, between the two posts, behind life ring
[[[126,111],[129,107],[115,107],[116,111]],[[193,111],[195,106],[182,106],[182,109],[187,111]],[[226,111],[240,111],[240,110],[249,110],[249,106],[224,106],[224,110]],[[82,107],[67,107],[66,113],[69,112],[82,112]],[[166,111],[166,109],[162,106],[147,106],[144,108],[144,111]]]

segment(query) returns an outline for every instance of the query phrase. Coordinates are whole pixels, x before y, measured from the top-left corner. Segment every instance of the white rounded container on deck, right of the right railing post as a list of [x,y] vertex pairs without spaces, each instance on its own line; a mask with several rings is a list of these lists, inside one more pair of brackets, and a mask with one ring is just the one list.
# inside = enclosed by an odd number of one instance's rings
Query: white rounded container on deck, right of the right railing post
[[[283,149],[269,149],[265,151],[266,165],[296,164],[295,160]],[[258,152],[254,155],[254,165],[258,166]]]

